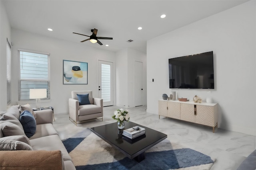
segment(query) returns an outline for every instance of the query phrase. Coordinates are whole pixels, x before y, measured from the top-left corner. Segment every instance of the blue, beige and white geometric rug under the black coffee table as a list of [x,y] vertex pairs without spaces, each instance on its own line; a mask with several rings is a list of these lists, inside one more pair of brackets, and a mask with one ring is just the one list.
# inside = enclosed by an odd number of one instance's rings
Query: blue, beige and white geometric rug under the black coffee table
[[62,141],[76,170],[209,170],[214,159],[169,140],[158,143],[138,163],[100,139],[89,128]]

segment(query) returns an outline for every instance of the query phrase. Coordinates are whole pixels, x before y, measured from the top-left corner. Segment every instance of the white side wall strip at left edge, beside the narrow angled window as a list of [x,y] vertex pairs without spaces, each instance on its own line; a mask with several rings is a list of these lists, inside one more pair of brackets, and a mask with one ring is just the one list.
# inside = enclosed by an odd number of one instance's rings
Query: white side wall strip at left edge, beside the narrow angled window
[[0,1],[0,111],[7,109],[6,39],[11,43],[11,27],[2,1]]

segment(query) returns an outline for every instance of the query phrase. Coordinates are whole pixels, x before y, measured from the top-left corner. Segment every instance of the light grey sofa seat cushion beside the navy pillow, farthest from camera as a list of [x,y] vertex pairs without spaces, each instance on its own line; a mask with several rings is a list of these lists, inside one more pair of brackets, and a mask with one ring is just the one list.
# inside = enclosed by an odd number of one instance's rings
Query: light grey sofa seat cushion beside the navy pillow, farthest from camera
[[31,140],[49,135],[58,135],[58,133],[51,123],[44,123],[36,125],[36,133],[29,139]]

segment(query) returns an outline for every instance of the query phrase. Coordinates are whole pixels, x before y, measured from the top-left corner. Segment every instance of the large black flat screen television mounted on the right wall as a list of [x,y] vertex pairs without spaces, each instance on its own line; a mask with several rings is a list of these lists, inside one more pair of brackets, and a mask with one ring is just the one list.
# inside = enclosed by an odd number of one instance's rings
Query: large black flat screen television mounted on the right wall
[[213,51],[169,59],[169,86],[214,89]]

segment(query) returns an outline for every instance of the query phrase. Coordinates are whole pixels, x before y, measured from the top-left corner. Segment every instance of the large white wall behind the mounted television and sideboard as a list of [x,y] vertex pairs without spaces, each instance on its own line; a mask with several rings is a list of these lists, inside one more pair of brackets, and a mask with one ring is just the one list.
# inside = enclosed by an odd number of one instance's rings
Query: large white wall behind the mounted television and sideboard
[[[158,114],[162,94],[206,100],[208,90],[169,89],[168,59],[214,52],[215,89],[219,104],[218,127],[256,135],[256,1],[176,29],[147,42],[147,101]],[[151,82],[154,78],[154,82]]]

